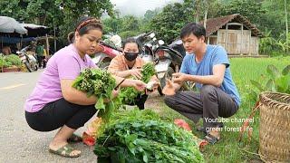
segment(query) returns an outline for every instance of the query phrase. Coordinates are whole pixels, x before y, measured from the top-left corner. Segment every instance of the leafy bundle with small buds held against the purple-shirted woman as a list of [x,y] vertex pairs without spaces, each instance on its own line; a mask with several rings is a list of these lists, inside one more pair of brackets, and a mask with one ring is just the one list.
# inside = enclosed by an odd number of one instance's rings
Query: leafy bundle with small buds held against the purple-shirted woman
[[[96,96],[98,101],[95,108],[100,110],[103,120],[108,120],[111,112],[116,108],[112,101],[112,91],[116,87],[116,80],[111,73],[101,69],[85,69],[73,81],[73,88],[87,93],[87,96]],[[105,103],[104,100],[109,102]]]

